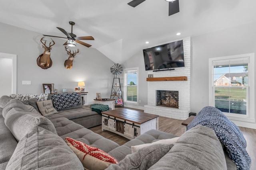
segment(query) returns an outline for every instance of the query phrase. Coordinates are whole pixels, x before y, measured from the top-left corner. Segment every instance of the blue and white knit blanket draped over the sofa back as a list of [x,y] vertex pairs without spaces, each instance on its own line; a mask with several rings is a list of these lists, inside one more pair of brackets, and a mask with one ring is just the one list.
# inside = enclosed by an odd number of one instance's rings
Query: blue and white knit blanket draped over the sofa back
[[188,124],[187,130],[196,125],[204,125],[215,131],[238,170],[250,169],[252,161],[246,151],[246,140],[240,129],[222,111],[211,106],[204,107]]

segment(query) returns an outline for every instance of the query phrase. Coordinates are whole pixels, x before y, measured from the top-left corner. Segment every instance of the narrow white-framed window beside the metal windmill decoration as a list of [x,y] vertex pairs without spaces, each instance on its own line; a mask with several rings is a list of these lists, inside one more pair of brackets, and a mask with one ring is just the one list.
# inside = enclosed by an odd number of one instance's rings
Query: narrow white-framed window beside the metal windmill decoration
[[124,70],[124,102],[138,104],[138,68]]

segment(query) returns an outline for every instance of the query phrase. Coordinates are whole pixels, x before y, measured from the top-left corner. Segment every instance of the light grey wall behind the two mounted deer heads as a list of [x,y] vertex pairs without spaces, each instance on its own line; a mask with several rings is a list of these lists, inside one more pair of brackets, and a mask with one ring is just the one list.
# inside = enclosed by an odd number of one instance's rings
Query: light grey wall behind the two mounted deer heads
[[[51,51],[53,64],[44,70],[36,63],[44,51],[40,42],[43,35],[4,23],[0,23],[0,30],[1,39],[6,40],[0,41],[0,52],[17,55],[17,94],[42,93],[43,83],[54,83],[58,92],[64,87],[67,91],[74,91],[78,81],[84,81],[88,104],[94,103],[96,92],[102,93],[103,98],[110,96],[113,78],[110,66],[114,62],[98,50],[78,44],[80,52],[74,59],[72,69],[67,70],[64,61],[68,55],[62,45],[66,39],[52,37],[55,41]],[[22,85],[22,80],[30,80],[31,85]]]

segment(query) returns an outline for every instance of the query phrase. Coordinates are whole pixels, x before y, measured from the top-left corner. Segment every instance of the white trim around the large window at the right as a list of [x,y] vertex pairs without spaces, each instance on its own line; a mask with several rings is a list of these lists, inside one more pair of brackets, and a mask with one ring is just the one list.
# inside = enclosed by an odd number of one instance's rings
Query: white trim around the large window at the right
[[255,123],[255,113],[254,113],[254,102],[255,102],[255,86],[254,86],[254,67],[255,67],[255,61],[254,61],[254,53],[248,53],[248,54],[242,54],[242,55],[232,55],[232,56],[225,56],[225,57],[216,57],[216,58],[210,58],[209,59],[209,106],[214,107],[214,87],[213,87],[213,66],[212,62],[216,60],[228,60],[228,59],[236,59],[236,58],[243,58],[243,57],[249,57],[250,62],[248,63],[248,91],[247,95],[249,98],[248,101],[248,115],[246,117],[243,117],[242,115],[236,115],[236,114],[230,114],[225,113],[225,115],[231,119],[236,121],[246,121],[246,122],[252,122]]

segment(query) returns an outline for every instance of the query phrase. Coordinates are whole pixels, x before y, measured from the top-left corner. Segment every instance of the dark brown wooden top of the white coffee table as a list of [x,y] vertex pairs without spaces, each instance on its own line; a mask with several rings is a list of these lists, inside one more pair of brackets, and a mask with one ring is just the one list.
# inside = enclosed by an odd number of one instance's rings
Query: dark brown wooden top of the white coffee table
[[143,124],[147,121],[155,119],[159,117],[159,115],[153,115],[149,113],[144,113],[142,111],[130,110],[125,108],[118,108],[109,111],[102,111],[102,114],[110,115],[119,119],[123,119],[126,121],[131,121],[133,123]]

